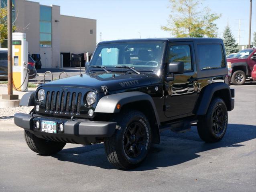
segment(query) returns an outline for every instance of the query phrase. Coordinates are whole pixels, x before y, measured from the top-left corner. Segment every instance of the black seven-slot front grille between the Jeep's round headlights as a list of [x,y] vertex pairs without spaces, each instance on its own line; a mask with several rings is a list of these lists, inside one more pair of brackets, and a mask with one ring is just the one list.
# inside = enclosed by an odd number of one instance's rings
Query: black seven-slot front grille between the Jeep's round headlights
[[75,92],[48,91],[46,96],[45,109],[50,113],[79,114],[82,94]]

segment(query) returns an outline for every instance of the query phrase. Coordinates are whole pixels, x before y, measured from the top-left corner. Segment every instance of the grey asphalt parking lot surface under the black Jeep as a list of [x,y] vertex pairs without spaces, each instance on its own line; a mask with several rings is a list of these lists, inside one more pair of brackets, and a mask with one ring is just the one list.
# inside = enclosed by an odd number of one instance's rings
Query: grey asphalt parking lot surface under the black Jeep
[[117,170],[103,144],[67,144],[54,156],[31,151],[22,129],[2,121],[0,191],[256,191],[256,83],[235,88],[235,109],[221,142],[163,132],[142,166]]

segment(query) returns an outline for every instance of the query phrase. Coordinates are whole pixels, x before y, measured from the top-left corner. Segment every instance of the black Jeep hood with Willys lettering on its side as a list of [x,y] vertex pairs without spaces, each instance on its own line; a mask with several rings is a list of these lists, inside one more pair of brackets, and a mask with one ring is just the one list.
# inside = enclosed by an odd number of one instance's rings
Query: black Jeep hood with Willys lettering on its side
[[83,76],[72,76],[55,81],[51,81],[41,86],[71,86],[86,87],[103,92],[102,86],[107,86],[109,91],[127,89],[140,86],[149,86],[160,78],[156,74],[118,74],[118,73],[101,73],[101,74],[83,74]]

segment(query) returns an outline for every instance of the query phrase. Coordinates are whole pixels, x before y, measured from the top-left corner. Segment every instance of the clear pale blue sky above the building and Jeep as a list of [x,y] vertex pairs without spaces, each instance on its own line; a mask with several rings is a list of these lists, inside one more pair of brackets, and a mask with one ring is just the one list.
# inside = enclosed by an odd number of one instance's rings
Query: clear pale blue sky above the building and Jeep
[[[59,5],[61,14],[97,20],[97,42],[100,32],[103,40],[130,38],[171,37],[161,30],[171,14],[168,0],[33,0],[42,5]],[[250,0],[201,0],[202,7],[221,14],[215,23],[218,37],[229,24],[238,41],[240,20],[240,44],[248,44]],[[252,0],[252,34],[256,31],[256,0]]]

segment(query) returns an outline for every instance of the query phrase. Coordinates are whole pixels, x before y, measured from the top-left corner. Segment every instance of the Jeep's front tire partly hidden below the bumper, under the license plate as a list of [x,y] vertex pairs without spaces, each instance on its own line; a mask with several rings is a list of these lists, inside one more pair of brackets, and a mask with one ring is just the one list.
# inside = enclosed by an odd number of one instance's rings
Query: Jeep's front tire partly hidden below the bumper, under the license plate
[[24,138],[28,147],[41,155],[55,154],[63,149],[66,143],[49,141],[38,138],[29,131],[24,130]]

